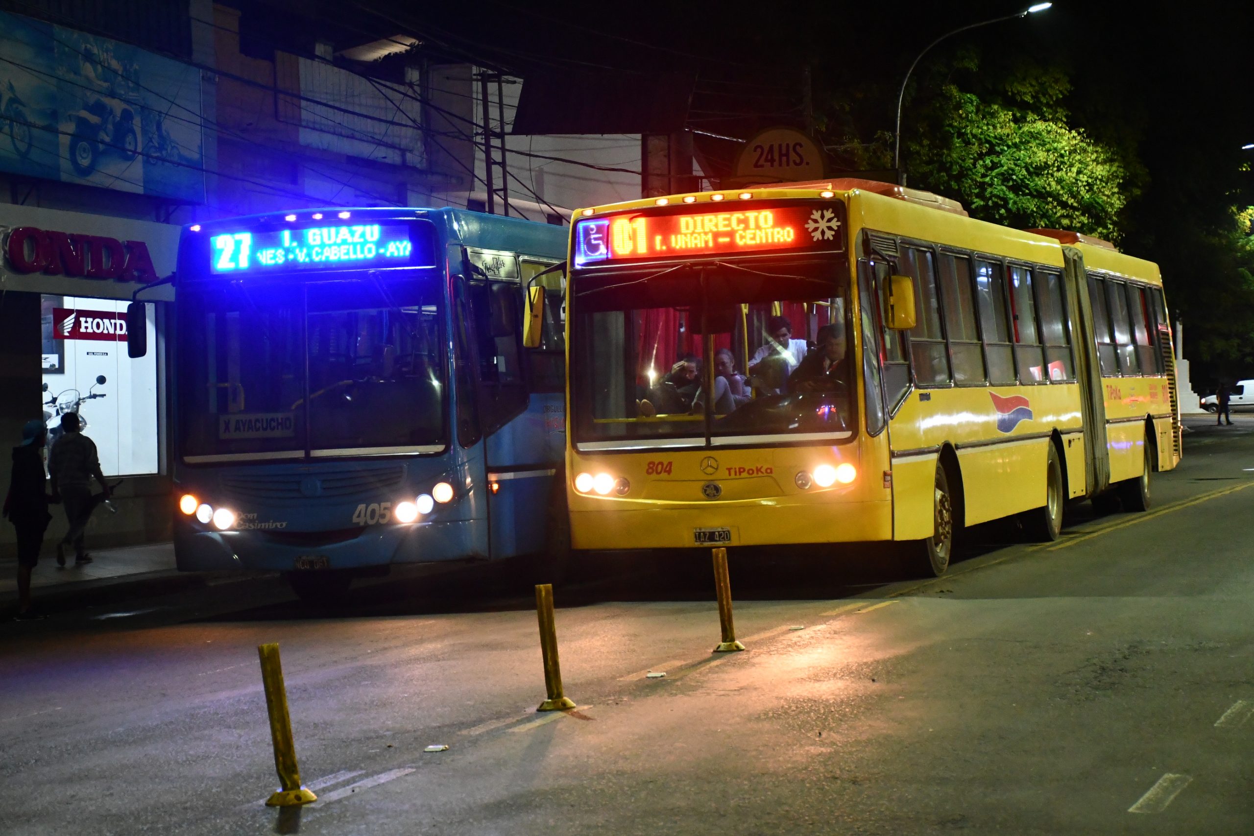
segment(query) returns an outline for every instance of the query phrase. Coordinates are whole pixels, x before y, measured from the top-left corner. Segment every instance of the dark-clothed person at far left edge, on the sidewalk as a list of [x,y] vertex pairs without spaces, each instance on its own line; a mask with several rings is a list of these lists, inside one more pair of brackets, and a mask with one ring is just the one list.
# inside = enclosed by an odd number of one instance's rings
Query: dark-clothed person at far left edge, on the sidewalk
[[44,445],[48,427],[39,419],[21,427],[21,444],[13,449],[13,474],[4,499],[4,515],[18,529],[18,615],[19,620],[44,618],[30,603],[30,572],[39,563],[44,531],[53,515],[45,490]]

